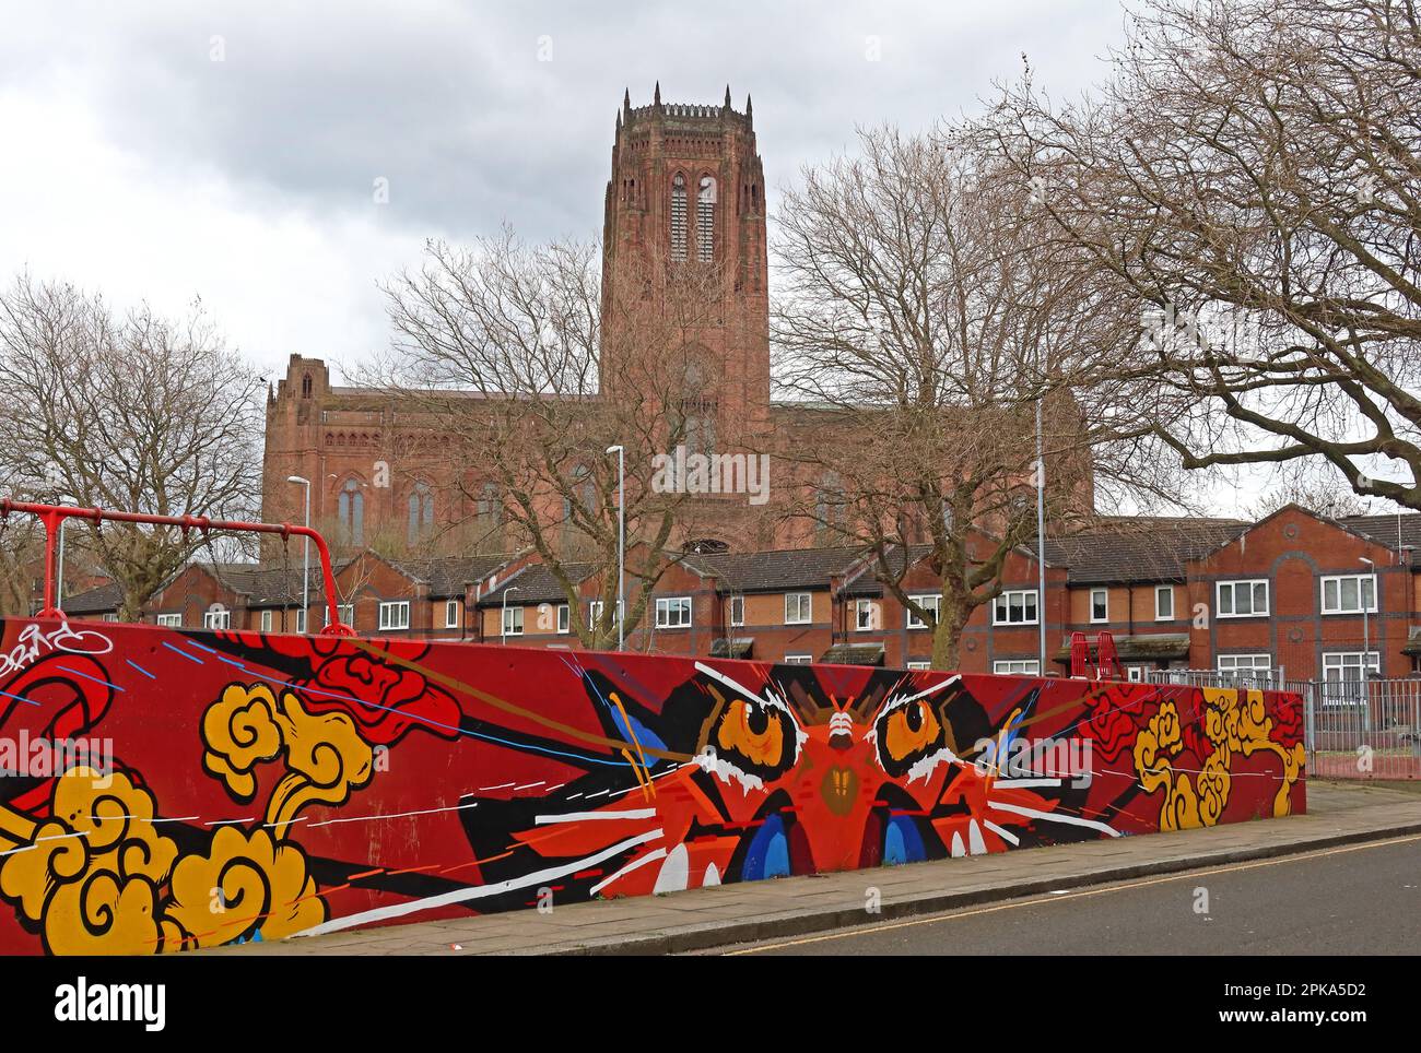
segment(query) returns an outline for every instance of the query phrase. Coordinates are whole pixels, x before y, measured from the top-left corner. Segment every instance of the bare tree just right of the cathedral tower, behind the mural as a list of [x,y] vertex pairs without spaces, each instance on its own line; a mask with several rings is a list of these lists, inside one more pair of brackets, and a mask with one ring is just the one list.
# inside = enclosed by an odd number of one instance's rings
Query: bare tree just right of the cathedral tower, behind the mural
[[[1037,404],[1057,529],[1093,514],[1110,474],[1091,447],[1137,434],[1110,412],[1128,404],[1118,379],[1081,383],[1134,329],[1036,251],[1032,187],[968,129],[860,138],[860,156],[806,170],[780,206],[777,377],[821,421],[821,441],[786,456],[833,480],[801,511],[875,555],[949,668],[1009,555],[1036,536]],[[936,616],[902,583],[919,556],[941,575]]]

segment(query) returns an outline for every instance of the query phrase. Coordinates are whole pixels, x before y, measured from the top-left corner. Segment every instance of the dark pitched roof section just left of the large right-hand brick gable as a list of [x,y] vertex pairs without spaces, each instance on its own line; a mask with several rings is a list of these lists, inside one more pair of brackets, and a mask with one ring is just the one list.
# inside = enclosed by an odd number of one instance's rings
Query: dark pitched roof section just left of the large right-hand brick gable
[[1046,539],[1046,562],[1064,566],[1070,585],[1179,582],[1184,565],[1243,534],[1243,519],[1137,517],[1107,519]]

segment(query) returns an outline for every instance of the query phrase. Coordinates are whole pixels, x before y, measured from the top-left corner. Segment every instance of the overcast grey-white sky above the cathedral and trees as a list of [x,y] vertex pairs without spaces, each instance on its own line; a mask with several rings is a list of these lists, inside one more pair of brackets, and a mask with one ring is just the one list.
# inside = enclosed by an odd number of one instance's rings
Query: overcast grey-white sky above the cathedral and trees
[[773,213],[855,123],[972,109],[1023,51],[1079,91],[1123,33],[1115,0],[0,9],[0,278],[200,295],[273,375],[385,346],[375,282],[428,237],[598,234],[624,87],[750,92]]

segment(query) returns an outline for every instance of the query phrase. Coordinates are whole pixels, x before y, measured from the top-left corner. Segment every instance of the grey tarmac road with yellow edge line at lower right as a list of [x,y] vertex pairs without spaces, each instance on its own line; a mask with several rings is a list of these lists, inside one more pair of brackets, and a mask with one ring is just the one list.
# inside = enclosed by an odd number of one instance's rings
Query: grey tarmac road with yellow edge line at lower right
[[[1201,891],[1202,890],[1202,891]],[[1421,954],[1421,836],[719,948],[777,955]]]

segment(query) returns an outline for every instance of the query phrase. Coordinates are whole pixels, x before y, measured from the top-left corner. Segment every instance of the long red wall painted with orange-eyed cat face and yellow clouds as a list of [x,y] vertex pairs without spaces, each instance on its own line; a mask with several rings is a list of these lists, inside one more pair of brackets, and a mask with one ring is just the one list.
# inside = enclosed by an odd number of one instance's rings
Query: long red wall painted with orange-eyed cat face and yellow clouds
[[1299,813],[1258,691],[16,620],[0,951],[159,954]]

